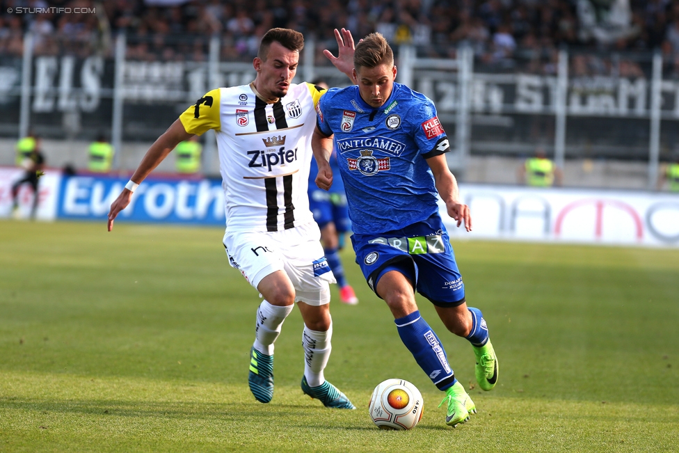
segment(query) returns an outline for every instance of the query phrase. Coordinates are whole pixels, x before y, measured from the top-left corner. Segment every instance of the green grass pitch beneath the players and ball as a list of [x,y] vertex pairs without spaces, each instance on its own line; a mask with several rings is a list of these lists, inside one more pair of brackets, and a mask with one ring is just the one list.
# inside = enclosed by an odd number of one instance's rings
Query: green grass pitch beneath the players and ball
[[[500,358],[457,429],[343,252],[359,305],[337,302],[326,377],[358,406],[305,397],[297,310],[270,404],[248,390],[257,292],[217,228],[0,221],[0,452],[679,451],[679,250],[455,242],[468,303]],[[422,314],[456,376],[470,345]],[[412,431],[380,431],[374,386],[422,390]]]

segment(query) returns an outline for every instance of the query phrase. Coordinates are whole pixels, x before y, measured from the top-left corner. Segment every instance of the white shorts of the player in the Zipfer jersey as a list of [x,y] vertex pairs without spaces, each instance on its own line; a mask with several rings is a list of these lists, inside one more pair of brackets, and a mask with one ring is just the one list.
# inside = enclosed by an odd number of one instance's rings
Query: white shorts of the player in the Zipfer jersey
[[295,302],[323,305],[330,302],[330,283],[335,283],[315,222],[271,232],[227,231],[224,246],[229,264],[250,285],[275,271],[285,271],[295,288]]

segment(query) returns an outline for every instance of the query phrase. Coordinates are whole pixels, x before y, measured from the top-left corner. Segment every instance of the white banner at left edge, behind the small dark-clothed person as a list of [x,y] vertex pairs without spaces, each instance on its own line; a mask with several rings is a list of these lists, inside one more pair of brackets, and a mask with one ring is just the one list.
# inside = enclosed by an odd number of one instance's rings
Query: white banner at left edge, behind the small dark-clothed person
[[[33,188],[22,184],[17,193],[18,211],[13,213],[12,186],[26,175],[26,170],[17,167],[0,166],[0,218],[29,218],[33,209]],[[61,170],[45,169],[45,175],[38,182],[38,209],[35,218],[52,221],[56,218],[59,198]]]

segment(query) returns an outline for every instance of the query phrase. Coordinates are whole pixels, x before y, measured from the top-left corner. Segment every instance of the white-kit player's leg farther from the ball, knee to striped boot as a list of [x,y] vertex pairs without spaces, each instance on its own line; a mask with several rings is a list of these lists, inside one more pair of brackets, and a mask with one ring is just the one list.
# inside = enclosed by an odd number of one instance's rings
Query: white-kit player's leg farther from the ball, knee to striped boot
[[262,278],[257,289],[264,296],[264,301],[257,308],[248,385],[257,401],[268,403],[273,398],[273,343],[280,334],[283,321],[294,308],[295,289],[283,271],[275,271]]

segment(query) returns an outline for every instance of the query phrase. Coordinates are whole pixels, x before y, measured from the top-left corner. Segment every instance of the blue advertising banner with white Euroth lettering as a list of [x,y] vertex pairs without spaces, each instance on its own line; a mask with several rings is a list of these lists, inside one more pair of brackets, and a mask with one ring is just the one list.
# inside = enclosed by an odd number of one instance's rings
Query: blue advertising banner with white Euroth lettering
[[[58,218],[105,221],[127,181],[113,176],[63,177]],[[221,181],[149,177],[116,221],[225,225]]]

